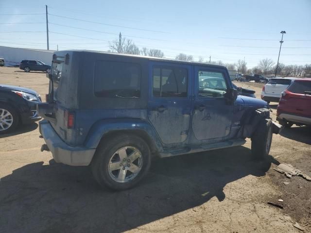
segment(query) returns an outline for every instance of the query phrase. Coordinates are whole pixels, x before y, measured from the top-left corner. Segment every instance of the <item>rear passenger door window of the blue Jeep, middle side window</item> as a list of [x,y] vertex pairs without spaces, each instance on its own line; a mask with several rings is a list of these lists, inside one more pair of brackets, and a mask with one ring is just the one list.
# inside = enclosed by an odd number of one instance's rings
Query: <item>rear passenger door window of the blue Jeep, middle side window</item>
[[187,97],[188,70],[181,67],[153,69],[154,97]]

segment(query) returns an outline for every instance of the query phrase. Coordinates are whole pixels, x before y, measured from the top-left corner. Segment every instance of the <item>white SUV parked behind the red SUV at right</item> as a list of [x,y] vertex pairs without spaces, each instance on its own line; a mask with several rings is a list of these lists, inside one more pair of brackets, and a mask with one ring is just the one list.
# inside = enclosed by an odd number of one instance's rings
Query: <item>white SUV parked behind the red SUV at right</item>
[[297,78],[273,78],[262,87],[261,100],[278,102],[281,93]]

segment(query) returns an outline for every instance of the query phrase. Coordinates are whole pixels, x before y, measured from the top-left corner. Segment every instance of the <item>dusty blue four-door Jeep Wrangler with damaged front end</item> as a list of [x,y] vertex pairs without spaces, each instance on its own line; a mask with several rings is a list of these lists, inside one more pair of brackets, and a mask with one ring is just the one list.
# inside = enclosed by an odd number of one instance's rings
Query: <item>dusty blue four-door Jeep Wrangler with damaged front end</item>
[[53,54],[47,103],[38,104],[46,144],[58,163],[91,166],[114,190],[137,184],[160,158],[241,146],[268,155],[267,102],[238,96],[222,66],[105,52]]

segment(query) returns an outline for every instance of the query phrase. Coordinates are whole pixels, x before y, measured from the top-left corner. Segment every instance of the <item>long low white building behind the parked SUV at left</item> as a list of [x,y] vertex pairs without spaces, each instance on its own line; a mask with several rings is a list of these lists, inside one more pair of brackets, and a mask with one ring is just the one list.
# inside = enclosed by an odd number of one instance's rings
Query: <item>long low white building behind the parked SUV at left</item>
[[22,60],[37,60],[51,65],[54,50],[22,49],[0,46],[0,58],[4,58],[5,66],[19,66]]

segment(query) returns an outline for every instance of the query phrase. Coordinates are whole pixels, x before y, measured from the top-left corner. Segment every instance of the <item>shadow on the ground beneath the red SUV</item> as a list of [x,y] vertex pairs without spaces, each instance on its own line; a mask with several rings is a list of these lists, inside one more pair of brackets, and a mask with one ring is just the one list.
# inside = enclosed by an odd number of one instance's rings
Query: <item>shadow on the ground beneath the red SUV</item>
[[292,139],[294,141],[302,142],[311,145],[311,127],[297,126],[291,128],[284,128],[281,133],[283,137]]

